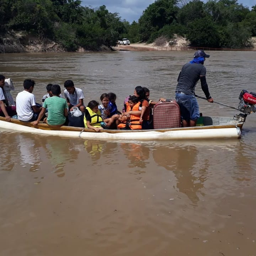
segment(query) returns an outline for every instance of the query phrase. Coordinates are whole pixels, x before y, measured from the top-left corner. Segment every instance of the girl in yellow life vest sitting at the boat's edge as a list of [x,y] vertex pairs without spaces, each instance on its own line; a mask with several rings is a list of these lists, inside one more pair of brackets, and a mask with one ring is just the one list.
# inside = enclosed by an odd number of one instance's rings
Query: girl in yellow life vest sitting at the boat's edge
[[101,117],[101,112],[98,109],[98,102],[92,100],[88,103],[88,106],[85,108],[84,116],[84,125],[85,128],[90,128],[98,132],[101,129],[104,129],[102,126],[107,126]]

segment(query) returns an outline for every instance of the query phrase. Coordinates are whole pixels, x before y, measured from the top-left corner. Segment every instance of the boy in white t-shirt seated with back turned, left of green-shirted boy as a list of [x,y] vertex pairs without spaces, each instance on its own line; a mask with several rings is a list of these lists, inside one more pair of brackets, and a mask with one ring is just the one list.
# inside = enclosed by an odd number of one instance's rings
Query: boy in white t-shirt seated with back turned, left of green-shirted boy
[[42,107],[36,106],[36,100],[32,91],[34,90],[34,80],[26,79],[23,82],[24,90],[16,97],[16,111],[20,121],[32,122],[37,120]]

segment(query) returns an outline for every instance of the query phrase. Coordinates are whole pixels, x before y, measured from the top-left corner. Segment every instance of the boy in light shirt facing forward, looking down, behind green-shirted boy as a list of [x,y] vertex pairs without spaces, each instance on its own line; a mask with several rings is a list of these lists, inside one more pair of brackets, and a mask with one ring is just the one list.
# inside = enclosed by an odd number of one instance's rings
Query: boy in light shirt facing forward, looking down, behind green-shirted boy
[[81,112],[85,112],[84,94],[81,89],[75,88],[73,81],[66,80],[64,82],[64,97],[66,98],[69,110],[72,111],[73,107],[78,107]]

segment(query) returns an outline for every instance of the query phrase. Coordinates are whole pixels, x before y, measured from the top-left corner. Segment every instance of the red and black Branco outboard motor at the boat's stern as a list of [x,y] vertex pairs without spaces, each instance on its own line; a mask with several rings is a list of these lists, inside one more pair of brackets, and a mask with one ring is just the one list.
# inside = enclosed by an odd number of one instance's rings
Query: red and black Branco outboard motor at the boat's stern
[[256,93],[242,90],[239,95],[238,110],[245,114],[256,112],[254,105],[256,104]]

